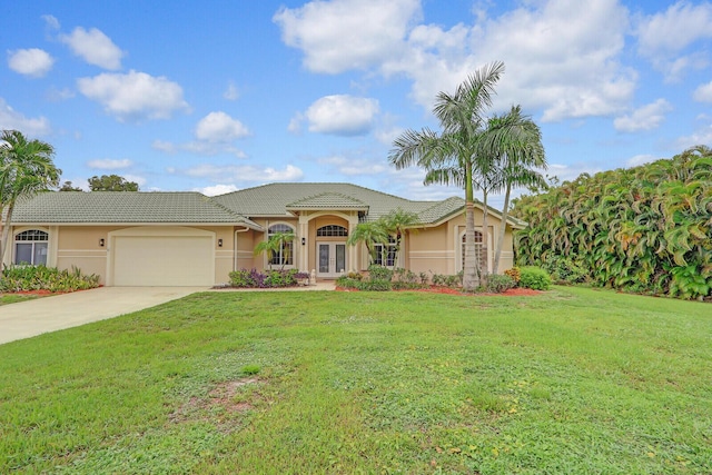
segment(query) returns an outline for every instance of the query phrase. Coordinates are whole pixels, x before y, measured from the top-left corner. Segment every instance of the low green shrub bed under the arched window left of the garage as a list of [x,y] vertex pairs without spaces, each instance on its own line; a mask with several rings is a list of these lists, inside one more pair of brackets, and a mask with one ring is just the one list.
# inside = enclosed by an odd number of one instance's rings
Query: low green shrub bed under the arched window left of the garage
[[0,291],[75,291],[99,287],[99,276],[85,275],[72,266],[71,270],[56,267],[12,266],[4,269],[0,277]]

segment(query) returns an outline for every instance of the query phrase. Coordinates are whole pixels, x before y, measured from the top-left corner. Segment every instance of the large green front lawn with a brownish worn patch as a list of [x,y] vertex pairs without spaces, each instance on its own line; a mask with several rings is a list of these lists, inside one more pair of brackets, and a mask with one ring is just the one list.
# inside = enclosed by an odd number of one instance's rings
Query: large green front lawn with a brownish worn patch
[[0,346],[0,473],[712,473],[712,307],[205,293]]

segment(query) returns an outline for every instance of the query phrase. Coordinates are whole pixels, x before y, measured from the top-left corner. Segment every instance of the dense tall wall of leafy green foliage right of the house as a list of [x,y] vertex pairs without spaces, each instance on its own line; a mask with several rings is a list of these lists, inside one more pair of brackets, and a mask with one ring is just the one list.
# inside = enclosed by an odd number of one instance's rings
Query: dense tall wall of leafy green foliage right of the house
[[590,176],[523,197],[517,263],[597,286],[712,297],[712,149]]

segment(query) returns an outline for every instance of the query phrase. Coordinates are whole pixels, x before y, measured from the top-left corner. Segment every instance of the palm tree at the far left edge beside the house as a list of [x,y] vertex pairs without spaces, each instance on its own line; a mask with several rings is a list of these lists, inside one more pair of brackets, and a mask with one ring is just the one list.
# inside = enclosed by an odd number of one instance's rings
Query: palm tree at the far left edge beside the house
[[61,170],[55,167],[51,145],[28,140],[17,130],[3,130],[0,135],[0,218],[4,217],[0,264],[8,249],[17,201],[59,185]]

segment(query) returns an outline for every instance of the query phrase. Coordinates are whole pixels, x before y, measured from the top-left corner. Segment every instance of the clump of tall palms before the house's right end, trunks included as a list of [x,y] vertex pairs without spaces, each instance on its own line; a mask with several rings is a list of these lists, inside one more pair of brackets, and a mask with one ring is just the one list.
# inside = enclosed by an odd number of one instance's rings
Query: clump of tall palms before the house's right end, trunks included
[[[465,189],[465,261],[463,287],[474,290],[486,268],[475,251],[474,190],[483,196],[483,222],[487,226],[487,197],[504,191],[502,221],[506,222],[510,194],[520,186],[543,185],[537,169],[546,168],[542,133],[520,106],[503,115],[485,117],[494,85],[504,72],[494,62],[472,75],[454,95],[441,92],[433,112],[443,128],[407,130],[394,142],[389,160],[397,168],[417,165],[426,170],[424,184],[455,185]],[[496,237],[494,270],[498,271],[504,226]],[[486,243],[486,240],[485,240]]]

